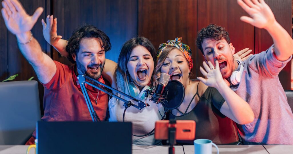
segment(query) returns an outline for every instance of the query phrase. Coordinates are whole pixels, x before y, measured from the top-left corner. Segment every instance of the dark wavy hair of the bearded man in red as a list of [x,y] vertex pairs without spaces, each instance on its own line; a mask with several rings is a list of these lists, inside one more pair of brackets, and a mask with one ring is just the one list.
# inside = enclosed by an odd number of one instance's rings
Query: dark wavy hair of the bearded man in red
[[102,42],[101,48],[104,48],[105,52],[111,49],[110,38],[103,31],[93,25],[84,24],[73,31],[66,45],[66,51],[69,54],[67,58],[73,64],[76,61],[73,60],[72,55],[77,55],[79,52],[79,43],[82,38],[99,38]]

